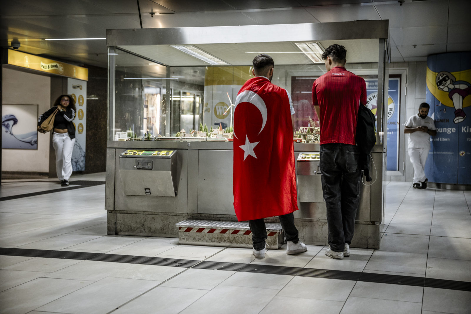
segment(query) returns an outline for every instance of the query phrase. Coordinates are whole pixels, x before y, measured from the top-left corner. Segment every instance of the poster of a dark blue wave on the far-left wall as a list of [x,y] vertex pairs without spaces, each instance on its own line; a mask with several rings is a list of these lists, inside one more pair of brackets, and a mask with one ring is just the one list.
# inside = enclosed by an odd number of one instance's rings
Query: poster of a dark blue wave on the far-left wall
[[38,149],[38,105],[3,105],[2,149]]

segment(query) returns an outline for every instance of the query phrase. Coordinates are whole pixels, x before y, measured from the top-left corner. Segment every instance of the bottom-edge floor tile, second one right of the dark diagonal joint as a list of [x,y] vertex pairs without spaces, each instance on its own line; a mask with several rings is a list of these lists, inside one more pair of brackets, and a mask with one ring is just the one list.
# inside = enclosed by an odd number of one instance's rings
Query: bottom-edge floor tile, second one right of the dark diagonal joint
[[278,291],[277,289],[218,286],[188,306],[181,314],[256,314],[276,296]]

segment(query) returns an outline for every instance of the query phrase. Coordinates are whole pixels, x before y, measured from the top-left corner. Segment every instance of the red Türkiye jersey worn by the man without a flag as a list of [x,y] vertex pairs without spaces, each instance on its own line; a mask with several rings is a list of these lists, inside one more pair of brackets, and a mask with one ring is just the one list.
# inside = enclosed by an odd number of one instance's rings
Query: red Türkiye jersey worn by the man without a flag
[[312,103],[321,112],[320,144],[356,145],[357,113],[366,105],[365,80],[335,66],[312,85]]

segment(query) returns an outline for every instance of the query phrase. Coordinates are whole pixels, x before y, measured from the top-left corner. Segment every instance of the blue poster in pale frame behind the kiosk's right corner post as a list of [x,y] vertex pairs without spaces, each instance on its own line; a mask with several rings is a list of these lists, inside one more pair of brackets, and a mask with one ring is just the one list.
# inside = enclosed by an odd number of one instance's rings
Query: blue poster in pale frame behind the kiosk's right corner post
[[[365,79],[366,82],[366,107],[370,108],[376,116],[378,107],[378,80]],[[398,151],[399,151],[399,78],[389,79],[388,91],[388,124],[387,124],[387,145],[388,153],[386,157],[387,170],[398,171]]]

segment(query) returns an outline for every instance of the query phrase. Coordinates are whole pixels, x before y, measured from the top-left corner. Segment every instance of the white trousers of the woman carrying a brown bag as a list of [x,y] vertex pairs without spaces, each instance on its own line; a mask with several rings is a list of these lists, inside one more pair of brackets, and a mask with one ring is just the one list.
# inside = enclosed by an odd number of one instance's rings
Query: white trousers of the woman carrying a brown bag
[[56,171],[60,181],[69,180],[72,175],[72,150],[75,139],[71,140],[69,133],[52,135],[52,146],[56,150]]

